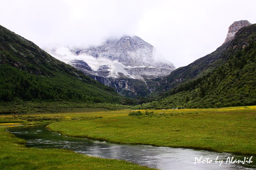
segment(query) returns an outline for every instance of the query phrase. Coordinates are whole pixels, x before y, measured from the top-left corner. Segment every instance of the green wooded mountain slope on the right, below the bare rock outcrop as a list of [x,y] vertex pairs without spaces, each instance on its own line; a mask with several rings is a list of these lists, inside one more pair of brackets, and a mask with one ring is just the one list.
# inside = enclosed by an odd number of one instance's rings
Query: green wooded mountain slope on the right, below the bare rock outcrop
[[157,89],[161,100],[143,104],[141,108],[256,104],[255,60],[256,24],[253,24],[241,28],[230,44],[172,72]]

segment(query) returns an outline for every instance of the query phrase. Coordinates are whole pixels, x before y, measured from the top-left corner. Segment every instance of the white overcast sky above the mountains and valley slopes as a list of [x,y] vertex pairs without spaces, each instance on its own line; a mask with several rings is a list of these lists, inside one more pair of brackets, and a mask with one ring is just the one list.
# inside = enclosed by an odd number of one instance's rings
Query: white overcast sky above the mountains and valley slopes
[[175,67],[217,49],[228,27],[256,23],[255,0],[1,0],[0,24],[40,47],[137,35]]

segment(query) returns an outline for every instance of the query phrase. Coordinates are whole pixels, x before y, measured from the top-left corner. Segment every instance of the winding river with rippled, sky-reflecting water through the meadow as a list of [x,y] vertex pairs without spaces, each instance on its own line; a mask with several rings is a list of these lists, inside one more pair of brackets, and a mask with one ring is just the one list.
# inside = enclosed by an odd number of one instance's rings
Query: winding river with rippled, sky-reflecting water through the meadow
[[[34,127],[15,127],[9,130],[16,137],[27,140],[27,147],[37,148],[62,148],[74,152],[87,154],[95,157],[123,159],[129,162],[145,165],[151,168],[162,170],[216,170],[216,169],[256,169],[256,158],[252,157],[252,163],[233,163],[229,161],[232,157],[244,160],[244,157],[250,159],[247,155],[234,155],[229,153],[217,153],[195,149],[153,147],[145,145],[122,145],[109,142],[89,140],[86,138],[76,138],[60,135],[52,132],[44,126]],[[196,158],[201,161],[208,159],[208,163],[198,163]],[[218,157],[218,158],[217,158]],[[215,160],[218,160],[215,163]],[[211,163],[210,160],[212,160]],[[223,163],[221,163],[223,160]],[[228,160],[228,162],[226,162]]]

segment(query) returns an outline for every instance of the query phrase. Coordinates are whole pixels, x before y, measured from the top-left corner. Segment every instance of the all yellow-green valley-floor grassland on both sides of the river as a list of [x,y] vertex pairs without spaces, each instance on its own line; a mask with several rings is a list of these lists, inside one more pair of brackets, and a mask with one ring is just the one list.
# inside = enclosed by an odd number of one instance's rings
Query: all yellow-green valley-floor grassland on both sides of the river
[[6,131],[45,123],[62,135],[114,143],[256,155],[256,106],[0,115],[0,169],[149,169],[64,149],[26,148],[25,140]]

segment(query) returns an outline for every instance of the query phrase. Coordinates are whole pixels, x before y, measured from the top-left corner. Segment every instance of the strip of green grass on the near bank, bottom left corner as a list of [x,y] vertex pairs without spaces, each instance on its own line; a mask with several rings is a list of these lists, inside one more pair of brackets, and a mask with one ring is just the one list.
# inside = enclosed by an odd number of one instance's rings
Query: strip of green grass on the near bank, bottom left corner
[[25,140],[6,131],[10,123],[0,125],[1,170],[79,170],[150,169],[123,160],[103,159],[64,149],[26,148]]

